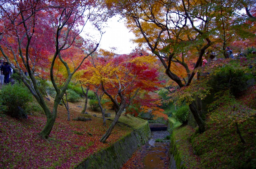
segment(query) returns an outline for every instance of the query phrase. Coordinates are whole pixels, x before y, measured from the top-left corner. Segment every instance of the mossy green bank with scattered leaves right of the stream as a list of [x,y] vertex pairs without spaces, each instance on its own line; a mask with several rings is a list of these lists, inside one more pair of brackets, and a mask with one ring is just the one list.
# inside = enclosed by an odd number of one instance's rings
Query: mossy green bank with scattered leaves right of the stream
[[[188,126],[173,130],[181,161],[186,168],[255,169],[256,168],[256,114],[255,86],[237,98],[246,112],[251,114],[238,127],[245,143],[241,142],[234,121],[230,120],[227,107],[210,112],[207,116],[207,130],[203,134]],[[251,109],[250,109],[251,108]],[[242,114],[246,117],[246,113]]]

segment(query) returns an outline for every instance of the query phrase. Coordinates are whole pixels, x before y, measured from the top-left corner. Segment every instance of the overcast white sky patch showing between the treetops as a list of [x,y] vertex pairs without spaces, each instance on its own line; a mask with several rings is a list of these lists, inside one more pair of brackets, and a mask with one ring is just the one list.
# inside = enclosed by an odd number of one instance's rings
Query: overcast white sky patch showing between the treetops
[[[107,26],[100,41],[100,49],[111,51],[111,48],[115,47],[115,53],[128,54],[136,47],[136,44],[130,42],[134,35],[124,26],[124,20],[120,20],[118,16],[115,16],[108,20]],[[93,32],[95,40],[99,41],[99,31],[95,31],[92,28],[89,31]]]

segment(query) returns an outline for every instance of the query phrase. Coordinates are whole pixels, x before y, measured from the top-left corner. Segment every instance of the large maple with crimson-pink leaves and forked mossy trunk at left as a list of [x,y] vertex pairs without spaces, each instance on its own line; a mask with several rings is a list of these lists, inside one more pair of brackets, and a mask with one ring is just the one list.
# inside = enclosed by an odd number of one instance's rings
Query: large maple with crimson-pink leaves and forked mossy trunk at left
[[[84,59],[93,53],[82,50],[73,52],[69,48],[82,49],[84,41],[79,36],[86,22],[92,17],[96,1],[11,1],[0,2],[1,30],[0,50],[9,62],[15,62],[12,69],[19,74],[24,84],[43,108],[47,121],[40,132],[43,138],[51,133],[57,116],[57,107],[64,96],[73,74],[83,64]],[[78,27],[80,26],[80,27]],[[78,61],[74,61],[74,59]],[[65,81],[56,81],[62,65]],[[25,75],[28,73],[28,77]],[[53,109],[50,110],[38,88],[36,77],[50,77],[56,91]]]

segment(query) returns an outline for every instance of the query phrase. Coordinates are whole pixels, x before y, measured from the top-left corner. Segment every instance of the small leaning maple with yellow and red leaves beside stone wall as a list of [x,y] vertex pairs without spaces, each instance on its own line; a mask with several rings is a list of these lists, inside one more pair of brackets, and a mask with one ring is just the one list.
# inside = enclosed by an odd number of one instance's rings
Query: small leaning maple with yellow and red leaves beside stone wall
[[104,92],[113,103],[116,112],[111,125],[100,139],[101,142],[105,142],[125,107],[141,92],[154,91],[160,85],[158,73],[154,68],[156,58],[138,53],[115,55],[104,52],[91,61],[92,67],[86,72],[91,78],[84,80],[90,86],[95,86],[95,92]]

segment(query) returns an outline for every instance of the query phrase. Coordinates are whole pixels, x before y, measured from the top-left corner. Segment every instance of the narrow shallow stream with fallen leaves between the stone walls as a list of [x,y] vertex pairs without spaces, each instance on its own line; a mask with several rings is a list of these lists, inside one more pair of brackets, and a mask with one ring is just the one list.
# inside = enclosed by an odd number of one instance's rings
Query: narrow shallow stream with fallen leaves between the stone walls
[[146,145],[139,148],[122,169],[167,169],[170,142],[155,142],[170,135],[168,131],[152,131]]

